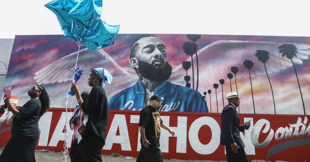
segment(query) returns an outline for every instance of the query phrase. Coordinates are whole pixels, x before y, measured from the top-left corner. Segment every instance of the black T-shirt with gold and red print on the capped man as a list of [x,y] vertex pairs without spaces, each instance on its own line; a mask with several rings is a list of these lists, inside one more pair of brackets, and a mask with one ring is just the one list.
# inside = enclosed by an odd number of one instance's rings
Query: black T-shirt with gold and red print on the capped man
[[[144,107],[140,112],[139,126],[145,127],[145,137],[152,146],[159,146],[160,138],[160,125],[162,124],[157,109],[148,105]],[[143,145],[142,138],[140,139],[141,145]]]

